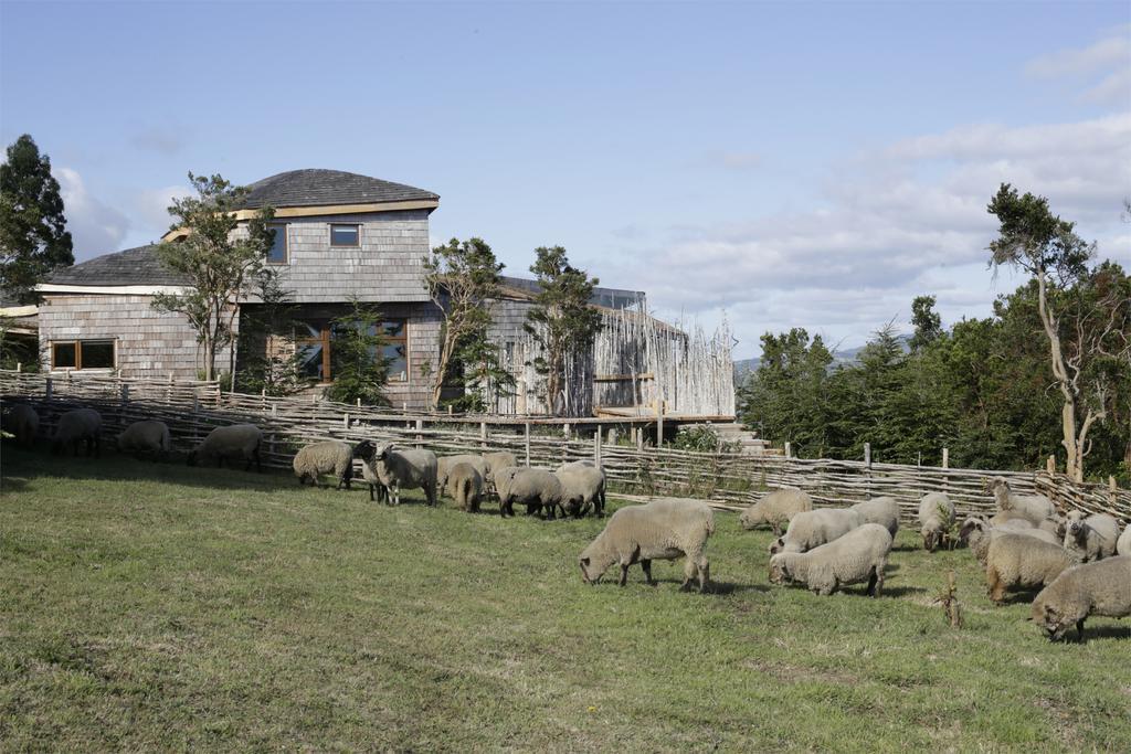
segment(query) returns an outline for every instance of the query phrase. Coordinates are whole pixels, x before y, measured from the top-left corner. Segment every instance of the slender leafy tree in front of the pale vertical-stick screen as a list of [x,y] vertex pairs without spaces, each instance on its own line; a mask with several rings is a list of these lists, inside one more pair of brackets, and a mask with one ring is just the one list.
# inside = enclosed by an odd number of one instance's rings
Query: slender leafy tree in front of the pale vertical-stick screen
[[539,291],[523,327],[541,346],[530,365],[545,379],[546,406],[558,416],[564,404],[567,364],[588,356],[602,327],[601,312],[589,306],[598,280],[571,266],[562,246],[538,246],[534,253],[530,271]]

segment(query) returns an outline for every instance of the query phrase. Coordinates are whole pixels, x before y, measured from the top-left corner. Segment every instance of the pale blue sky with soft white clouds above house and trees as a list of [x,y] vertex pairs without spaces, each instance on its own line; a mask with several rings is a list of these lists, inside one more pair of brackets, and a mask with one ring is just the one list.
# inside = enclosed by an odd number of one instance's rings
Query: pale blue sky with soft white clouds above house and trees
[[858,345],[986,270],[1008,181],[1131,265],[1131,3],[0,2],[0,137],[76,257],[156,239],[185,174],[347,170],[441,194],[508,271],[562,244],[736,357]]

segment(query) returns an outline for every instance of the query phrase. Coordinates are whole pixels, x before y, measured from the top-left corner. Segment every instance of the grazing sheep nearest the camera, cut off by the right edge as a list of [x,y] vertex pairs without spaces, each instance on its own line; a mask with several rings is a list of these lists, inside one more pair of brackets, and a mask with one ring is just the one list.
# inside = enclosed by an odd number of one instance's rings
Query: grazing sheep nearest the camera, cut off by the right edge
[[1131,557],[1121,555],[1068,569],[1033,600],[1030,617],[1050,641],[1057,641],[1076,625],[1083,641],[1089,615],[1131,616]]

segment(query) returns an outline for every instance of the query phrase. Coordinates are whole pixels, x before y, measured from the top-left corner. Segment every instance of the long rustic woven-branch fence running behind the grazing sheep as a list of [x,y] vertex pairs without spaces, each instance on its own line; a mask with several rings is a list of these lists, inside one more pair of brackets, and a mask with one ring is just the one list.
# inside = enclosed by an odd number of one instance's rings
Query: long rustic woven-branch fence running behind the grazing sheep
[[[114,376],[46,378],[0,371],[3,400],[29,402],[40,411],[45,436],[58,416],[77,406],[98,409],[105,436],[115,436],[143,418],[165,422],[178,451],[185,452],[213,427],[249,422],[266,436],[264,463],[290,468],[295,450],[317,440],[356,442],[366,437],[426,447],[437,453],[510,450],[519,463],[555,467],[563,461],[594,458],[605,468],[610,487],[637,495],[696,496],[719,508],[737,508],[765,489],[800,487],[819,504],[844,505],[879,495],[896,497],[905,520],[917,515],[918,499],[946,492],[964,515],[991,513],[994,503],[985,489],[990,477],[1005,477],[1021,494],[1048,495],[1062,509],[1108,512],[1131,522],[1131,491],[1077,484],[1061,474],[993,471],[869,461],[838,461],[736,453],[699,453],[644,444],[639,434],[630,444],[603,442],[598,431],[578,437],[571,426],[586,419],[515,417],[449,417],[378,411],[345,404],[296,398],[222,393],[215,382],[172,382]],[[605,421],[605,424],[614,422]],[[546,434],[547,426],[554,431]],[[560,432],[558,430],[561,430]]]

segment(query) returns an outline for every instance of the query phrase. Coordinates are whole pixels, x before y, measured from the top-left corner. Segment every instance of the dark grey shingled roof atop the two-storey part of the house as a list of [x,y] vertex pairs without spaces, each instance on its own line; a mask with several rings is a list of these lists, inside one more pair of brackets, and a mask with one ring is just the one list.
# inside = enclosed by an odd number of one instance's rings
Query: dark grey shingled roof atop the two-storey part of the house
[[438,194],[403,183],[391,183],[344,171],[287,171],[248,187],[244,206],[320,207],[325,205],[370,205],[386,201],[440,199]]

